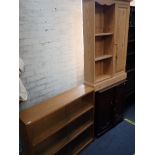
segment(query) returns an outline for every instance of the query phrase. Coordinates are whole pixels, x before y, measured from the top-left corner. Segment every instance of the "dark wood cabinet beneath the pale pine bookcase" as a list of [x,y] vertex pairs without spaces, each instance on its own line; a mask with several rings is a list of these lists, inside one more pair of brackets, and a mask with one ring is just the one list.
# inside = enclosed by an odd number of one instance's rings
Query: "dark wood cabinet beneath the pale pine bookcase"
[[125,83],[95,93],[95,135],[102,135],[123,120]]

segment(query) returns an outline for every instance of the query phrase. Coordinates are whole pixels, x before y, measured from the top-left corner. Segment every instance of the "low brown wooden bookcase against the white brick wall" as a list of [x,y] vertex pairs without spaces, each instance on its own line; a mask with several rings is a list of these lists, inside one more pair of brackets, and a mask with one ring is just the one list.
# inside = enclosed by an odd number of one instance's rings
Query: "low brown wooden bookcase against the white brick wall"
[[20,112],[26,154],[78,154],[94,138],[94,91],[80,85]]

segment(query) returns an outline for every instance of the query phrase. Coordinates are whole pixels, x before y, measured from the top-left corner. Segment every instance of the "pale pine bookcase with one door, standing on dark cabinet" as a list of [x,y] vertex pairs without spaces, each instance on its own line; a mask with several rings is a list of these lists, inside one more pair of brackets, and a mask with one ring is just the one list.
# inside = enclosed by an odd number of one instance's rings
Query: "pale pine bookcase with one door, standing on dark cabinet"
[[84,80],[95,91],[126,79],[129,0],[83,0]]

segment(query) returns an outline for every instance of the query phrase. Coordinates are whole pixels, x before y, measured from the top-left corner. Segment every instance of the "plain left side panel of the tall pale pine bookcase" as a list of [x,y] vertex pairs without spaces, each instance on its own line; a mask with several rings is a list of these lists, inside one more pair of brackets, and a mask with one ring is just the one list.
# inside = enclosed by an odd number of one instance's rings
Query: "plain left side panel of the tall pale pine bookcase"
[[95,59],[95,3],[83,0],[83,35],[84,35],[84,80],[94,83]]

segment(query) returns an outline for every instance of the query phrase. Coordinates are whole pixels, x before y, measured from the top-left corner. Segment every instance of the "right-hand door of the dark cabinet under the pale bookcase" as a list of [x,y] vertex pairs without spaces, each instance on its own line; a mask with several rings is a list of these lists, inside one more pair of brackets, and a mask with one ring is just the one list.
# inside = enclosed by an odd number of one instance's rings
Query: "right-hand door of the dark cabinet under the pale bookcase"
[[113,124],[117,124],[123,120],[123,107],[125,104],[125,83],[114,88],[113,101]]

